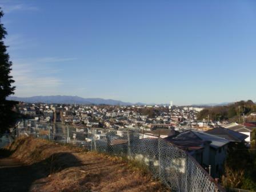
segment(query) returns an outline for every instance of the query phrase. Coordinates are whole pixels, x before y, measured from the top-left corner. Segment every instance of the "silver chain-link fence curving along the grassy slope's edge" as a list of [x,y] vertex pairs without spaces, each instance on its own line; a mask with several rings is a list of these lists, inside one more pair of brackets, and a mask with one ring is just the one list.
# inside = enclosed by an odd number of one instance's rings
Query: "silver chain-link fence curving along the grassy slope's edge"
[[18,123],[17,135],[22,134],[135,159],[172,191],[219,191],[213,179],[186,151],[153,135],[27,120]]

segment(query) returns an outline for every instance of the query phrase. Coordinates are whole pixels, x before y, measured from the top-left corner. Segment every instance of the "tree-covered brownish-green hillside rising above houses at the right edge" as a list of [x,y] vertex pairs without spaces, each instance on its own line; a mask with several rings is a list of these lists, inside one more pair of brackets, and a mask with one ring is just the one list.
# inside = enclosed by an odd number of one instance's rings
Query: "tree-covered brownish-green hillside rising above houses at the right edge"
[[209,115],[209,119],[214,121],[238,121],[239,117],[242,119],[243,115],[250,115],[255,111],[256,104],[253,101],[239,101],[225,106],[206,107],[198,113],[197,118],[199,120],[207,119],[207,116]]

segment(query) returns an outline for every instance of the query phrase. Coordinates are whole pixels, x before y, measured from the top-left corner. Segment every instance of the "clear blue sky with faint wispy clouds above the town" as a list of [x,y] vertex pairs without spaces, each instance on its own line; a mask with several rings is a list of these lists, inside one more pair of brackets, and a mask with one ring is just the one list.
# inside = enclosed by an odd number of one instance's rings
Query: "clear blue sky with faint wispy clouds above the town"
[[0,0],[15,96],[256,101],[256,1]]

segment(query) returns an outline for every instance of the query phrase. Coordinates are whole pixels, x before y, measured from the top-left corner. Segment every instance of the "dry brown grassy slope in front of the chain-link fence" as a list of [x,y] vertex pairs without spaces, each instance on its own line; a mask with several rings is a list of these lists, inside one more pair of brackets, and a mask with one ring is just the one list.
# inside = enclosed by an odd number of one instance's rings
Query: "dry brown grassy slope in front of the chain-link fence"
[[168,191],[145,167],[119,157],[30,137],[6,149],[35,174],[29,191]]

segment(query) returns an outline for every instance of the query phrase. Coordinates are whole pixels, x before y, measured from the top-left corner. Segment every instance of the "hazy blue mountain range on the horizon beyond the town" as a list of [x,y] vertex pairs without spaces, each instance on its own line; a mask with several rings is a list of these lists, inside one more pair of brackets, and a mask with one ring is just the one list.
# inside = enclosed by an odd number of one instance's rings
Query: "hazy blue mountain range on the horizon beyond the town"
[[7,97],[8,100],[23,101],[27,103],[58,103],[58,104],[85,104],[85,105],[144,105],[143,103],[130,103],[122,102],[113,99],[101,99],[101,98],[82,98],[78,96],[64,96],[64,95],[53,95],[53,96],[34,96],[34,97]]

